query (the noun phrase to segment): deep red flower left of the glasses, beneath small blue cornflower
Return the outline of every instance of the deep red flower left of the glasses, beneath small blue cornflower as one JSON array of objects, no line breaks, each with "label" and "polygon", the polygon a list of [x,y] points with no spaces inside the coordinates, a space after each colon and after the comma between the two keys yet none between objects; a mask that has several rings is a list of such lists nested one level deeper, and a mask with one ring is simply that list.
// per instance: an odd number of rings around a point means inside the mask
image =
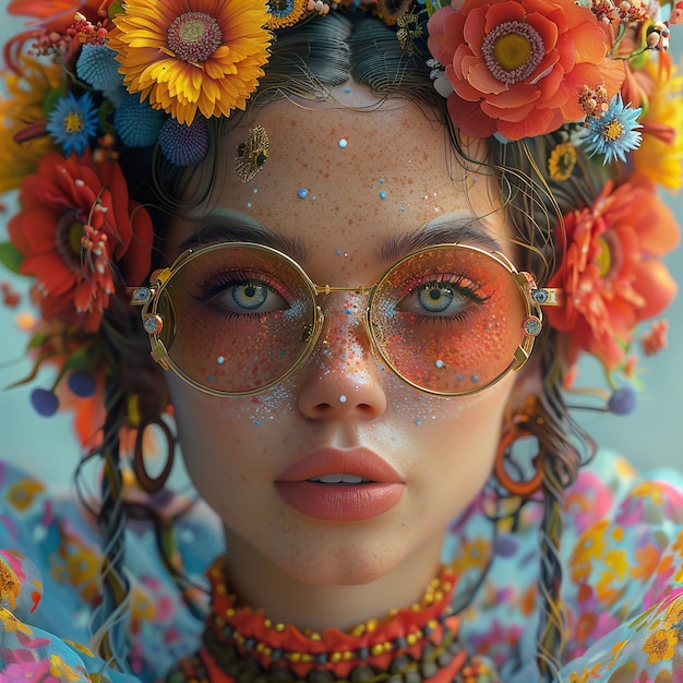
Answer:
[{"label": "deep red flower left of the glasses, beneath small blue cornflower", "polygon": [[24,255],[21,272],[38,279],[43,316],[96,332],[117,286],[149,272],[149,215],[129,201],[119,165],[89,154],[47,154],[20,199],[10,239]]}]

